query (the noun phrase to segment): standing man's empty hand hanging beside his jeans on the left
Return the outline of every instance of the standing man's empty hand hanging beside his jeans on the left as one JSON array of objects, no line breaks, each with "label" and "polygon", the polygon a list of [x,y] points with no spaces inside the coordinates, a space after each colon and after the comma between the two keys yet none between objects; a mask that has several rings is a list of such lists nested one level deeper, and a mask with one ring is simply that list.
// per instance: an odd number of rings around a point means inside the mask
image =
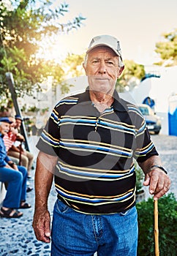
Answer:
[{"label": "standing man's empty hand hanging beside his jeans on the left", "polygon": [[50,243],[50,214],[47,209],[34,211],[33,228],[37,240]]}]

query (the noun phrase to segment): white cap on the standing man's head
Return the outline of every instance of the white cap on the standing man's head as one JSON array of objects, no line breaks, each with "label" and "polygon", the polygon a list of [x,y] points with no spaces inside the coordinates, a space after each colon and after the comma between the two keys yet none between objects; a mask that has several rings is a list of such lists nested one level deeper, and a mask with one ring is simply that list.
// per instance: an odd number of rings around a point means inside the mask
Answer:
[{"label": "white cap on the standing man's head", "polygon": [[119,41],[118,39],[116,39],[116,37],[112,37],[109,35],[101,35],[91,39],[89,48],[86,53],[89,53],[90,50],[102,45],[108,46],[109,48],[111,48],[116,53],[116,55],[121,58],[121,61],[122,61],[121,48],[120,48]]}]

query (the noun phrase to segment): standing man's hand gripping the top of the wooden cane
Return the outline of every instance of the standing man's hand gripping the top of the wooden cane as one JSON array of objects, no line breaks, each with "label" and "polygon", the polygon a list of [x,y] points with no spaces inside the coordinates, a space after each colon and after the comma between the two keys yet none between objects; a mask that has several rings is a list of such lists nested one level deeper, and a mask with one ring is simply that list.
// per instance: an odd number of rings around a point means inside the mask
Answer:
[{"label": "standing man's hand gripping the top of the wooden cane", "polygon": [[149,192],[154,195],[154,200],[165,195],[170,189],[170,178],[158,167],[154,167],[145,176],[144,186],[149,186]]}]

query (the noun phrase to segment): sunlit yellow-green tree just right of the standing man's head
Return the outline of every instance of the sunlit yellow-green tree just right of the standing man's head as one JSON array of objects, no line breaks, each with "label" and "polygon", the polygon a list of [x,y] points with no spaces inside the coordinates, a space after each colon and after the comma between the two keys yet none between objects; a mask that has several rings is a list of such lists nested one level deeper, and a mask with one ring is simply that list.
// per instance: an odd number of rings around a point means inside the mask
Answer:
[{"label": "sunlit yellow-green tree just right of the standing man's head", "polygon": [[125,86],[128,86],[129,90],[132,90],[145,75],[144,66],[135,63],[135,61],[124,60],[124,65],[124,71],[116,83],[116,89],[119,92],[124,91]]}]

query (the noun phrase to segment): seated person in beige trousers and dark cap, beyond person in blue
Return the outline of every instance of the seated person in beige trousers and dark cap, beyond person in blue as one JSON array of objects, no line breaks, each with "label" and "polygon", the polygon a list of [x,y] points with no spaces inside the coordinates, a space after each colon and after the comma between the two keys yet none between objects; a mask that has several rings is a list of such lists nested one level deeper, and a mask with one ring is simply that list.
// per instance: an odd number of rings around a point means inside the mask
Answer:
[{"label": "seated person in beige trousers and dark cap, beyond person in blue", "polygon": [[[23,121],[23,118],[20,116],[15,116],[15,129],[18,130],[17,138],[15,141],[24,141],[23,135],[20,135],[20,126]],[[22,146],[15,146],[15,144],[12,145],[12,147],[7,152],[8,156],[15,157],[18,159],[21,159],[21,165],[26,167],[28,170],[28,177],[30,178],[30,171],[31,167],[33,165],[33,159],[34,156],[29,151],[26,151]]]}]

